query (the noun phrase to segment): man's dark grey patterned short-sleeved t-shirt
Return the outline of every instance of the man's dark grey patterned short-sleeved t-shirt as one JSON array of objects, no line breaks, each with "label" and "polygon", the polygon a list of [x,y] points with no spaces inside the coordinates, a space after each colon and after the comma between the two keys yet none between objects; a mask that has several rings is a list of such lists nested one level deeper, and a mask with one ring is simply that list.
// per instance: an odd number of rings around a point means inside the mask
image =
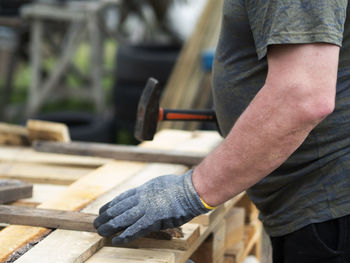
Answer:
[{"label": "man's dark grey patterned short-sleeved t-shirt", "polygon": [[341,46],[335,111],[248,195],[271,236],[350,214],[350,25],[346,0],[224,0],[213,95],[227,135],[264,85],[271,44]]}]

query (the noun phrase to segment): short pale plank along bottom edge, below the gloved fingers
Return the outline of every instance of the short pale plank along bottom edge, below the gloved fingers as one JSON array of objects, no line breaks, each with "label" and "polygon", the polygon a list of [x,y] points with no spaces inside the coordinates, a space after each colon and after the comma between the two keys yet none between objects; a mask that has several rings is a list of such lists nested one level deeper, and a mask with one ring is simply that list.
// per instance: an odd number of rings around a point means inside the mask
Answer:
[{"label": "short pale plank along bottom edge, below the gloved fingers", "polygon": [[103,247],[86,263],[132,263],[132,262],[157,262],[175,263],[175,255],[172,252],[152,251],[146,249],[128,249]]}]

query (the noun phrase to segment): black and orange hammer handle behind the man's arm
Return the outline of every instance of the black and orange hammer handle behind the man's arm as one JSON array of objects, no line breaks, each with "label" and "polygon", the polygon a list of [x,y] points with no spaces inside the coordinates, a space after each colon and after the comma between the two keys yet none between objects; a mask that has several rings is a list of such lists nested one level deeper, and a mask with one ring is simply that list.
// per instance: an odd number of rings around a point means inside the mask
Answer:
[{"label": "black and orange hammer handle behind the man's arm", "polygon": [[216,122],[214,110],[172,110],[159,108],[158,121],[210,121]]}]

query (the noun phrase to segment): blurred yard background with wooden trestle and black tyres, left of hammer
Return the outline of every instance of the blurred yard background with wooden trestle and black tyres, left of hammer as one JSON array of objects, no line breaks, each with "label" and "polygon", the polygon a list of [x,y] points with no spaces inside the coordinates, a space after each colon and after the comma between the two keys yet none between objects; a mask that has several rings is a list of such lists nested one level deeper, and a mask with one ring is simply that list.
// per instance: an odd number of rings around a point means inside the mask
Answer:
[{"label": "blurred yard background with wooden trestle and black tyres, left of hammer", "polygon": [[1,0],[0,121],[135,144],[148,77],[168,81],[207,0]]}]

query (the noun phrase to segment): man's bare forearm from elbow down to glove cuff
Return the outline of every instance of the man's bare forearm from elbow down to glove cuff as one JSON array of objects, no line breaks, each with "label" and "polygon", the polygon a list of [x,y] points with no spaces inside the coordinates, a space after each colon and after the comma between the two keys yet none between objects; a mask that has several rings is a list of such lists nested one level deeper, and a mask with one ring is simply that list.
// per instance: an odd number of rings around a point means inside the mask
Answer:
[{"label": "man's bare forearm from elbow down to glove cuff", "polygon": [[268,89],[261,90],[223,143],[195,168],[194,186],[208,204],[221,204],[271,173],[321,120],[303,120],[301,111],[285,108]]}]

